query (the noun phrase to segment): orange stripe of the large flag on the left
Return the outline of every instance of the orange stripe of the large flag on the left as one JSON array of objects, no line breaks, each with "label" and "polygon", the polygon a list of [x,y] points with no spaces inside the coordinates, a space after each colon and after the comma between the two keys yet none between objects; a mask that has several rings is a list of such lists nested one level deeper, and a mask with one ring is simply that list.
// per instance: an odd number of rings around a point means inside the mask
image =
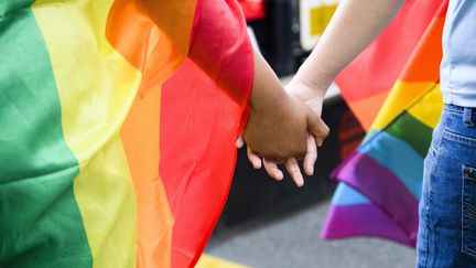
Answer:
[{"label": "orange stripe of the large flag on the left", "polygon": [[107,36],[142,72],[121,129],[138,202],[138,267],[170,267],[173,216],[159,174],[162,84],[186,57],[196,1],[117,1]]}]

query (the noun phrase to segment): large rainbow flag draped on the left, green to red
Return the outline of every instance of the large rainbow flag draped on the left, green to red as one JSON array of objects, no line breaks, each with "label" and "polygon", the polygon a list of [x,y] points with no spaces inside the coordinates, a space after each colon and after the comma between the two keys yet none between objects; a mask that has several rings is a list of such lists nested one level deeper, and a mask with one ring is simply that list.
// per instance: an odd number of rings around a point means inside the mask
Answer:
[{"label": "large rainbow flag draped on the left, green to red", "polygon": [[235,1],[1,1],[0,267],[192,267],[252,69]]}]

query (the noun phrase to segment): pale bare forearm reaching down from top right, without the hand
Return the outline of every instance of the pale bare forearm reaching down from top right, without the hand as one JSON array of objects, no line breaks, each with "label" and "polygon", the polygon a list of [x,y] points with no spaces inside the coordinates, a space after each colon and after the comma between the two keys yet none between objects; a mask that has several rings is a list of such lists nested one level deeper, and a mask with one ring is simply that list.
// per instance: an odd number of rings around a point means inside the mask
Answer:
[{"label": "pale bare forearm reaching down from top right, without the hand", "polygon": [[294,79],[324,95],[335,76],[385,29],[403,1],[342,1]]}]

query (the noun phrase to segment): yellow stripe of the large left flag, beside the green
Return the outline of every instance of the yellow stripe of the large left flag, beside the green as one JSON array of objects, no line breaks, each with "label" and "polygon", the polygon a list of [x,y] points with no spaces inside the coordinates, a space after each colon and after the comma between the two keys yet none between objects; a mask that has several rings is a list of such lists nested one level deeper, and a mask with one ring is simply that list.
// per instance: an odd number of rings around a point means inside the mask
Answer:
[{"label": "yellow stripe of the large left flag, beside the green", "polygon": [[94,267],[136,267],[137,204],[119,130],[141,74],[106,40],[112,0],[36,1]]}]

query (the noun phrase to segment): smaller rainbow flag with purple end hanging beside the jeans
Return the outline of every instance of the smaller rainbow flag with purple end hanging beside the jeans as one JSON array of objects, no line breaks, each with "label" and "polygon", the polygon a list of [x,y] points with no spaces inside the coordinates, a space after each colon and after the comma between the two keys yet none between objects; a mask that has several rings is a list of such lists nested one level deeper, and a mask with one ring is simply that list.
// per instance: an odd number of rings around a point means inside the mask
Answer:
[{"label": "smaller rainbow flag with purple end hanging beside the jeans", "polygon": [[344,98],[369,131],[333,174],[340,183],[324,238],[378,236],[415,245],[423,159],[443,108],[439,83],[446,9],[447,0],[407,1],[338,77]]}]

